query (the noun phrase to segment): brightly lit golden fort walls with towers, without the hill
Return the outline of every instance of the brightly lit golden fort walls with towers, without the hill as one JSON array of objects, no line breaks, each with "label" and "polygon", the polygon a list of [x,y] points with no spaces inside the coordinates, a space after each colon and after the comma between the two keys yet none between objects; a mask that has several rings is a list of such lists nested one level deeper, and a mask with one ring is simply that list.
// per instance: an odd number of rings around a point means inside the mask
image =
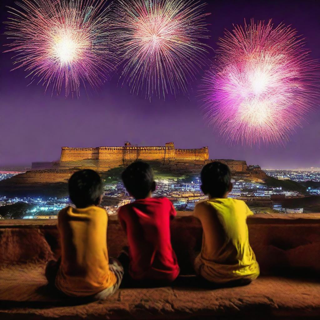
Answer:
[{"label": "brightly lit golden fort walls with towers, without the hill", "polygon": [[125,142],[123,147],[69,148],[62,147],[60,166],[73,163],[128,164],[135,160],[159,161],[164,164],[172,162],[204,163],[209,159],[208,147],[199,149],[176,149],[173,142],[158,147],[137,147]]}]

